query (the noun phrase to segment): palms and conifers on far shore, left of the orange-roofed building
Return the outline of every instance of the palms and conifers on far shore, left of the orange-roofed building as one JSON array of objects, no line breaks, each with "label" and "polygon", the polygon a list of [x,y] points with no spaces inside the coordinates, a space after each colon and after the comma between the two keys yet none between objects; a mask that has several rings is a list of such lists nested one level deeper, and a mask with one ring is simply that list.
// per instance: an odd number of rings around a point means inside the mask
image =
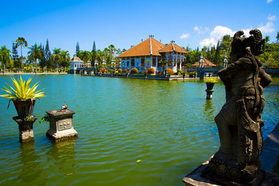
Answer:
[{"label": "palms and conifers on far shore, left of the orange-roofed building", "polygon": [[[29,51],[27,56],[22,55],[22,49],[27,47]],[[17,49],[20,48],[20,55],[17,52]],[[106,67],[112,65],[119,66],[119,59],[116,56],[125,52],[126,49],[116,49],[114,45],[110,45],[105,48],[103,51],[98,49],[96,50],[95,41],[93,42],[93,48],[91,52],[86,50],[80,50],[79,42],[77,42],[76,53],[86,65],[87,62],[91,61],[91,66],[93,67],[103,67],[103,61],[106,61]],[[6,72],[7,69],[13,69],[14,72],[20,71],[38,71],[40,70],[46,72],[65,72],[70,70],[70,54],[68,50],[62,50],[61,48],[55,48],[50,50],[49,41],[47,39],[45,46],[40,44],[31,45],[28,47],[27,40],[25,38],[19,37],[15,42],[13,42],[12,52],[6,46],[1,46],[0,49],[0,62],[1,70]],[[98,61],[98,65],[95,65],[95,61]]]}]

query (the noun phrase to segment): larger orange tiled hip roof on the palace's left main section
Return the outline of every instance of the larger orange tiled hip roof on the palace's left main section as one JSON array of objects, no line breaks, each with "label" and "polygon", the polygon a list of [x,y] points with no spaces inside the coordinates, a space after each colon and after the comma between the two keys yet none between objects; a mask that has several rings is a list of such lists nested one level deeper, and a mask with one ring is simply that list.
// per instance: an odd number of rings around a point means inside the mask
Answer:
[{"label": "larger orange tiled hip roof on the palace's left main section", "polygon": [[[151,47],[150,47],[151,45]],[[154,38],[148,38],[147,40],[144,40],[139,45],[136,45],[135,47],[128,49],[123,54],[117,56],[119,58],[122,57],[130,57],[130,56],[161,56],[161,54],[158,52],[159,49],[162,49],[165,47],[165,45],[161,42],[158,42],[158,40]]]}]

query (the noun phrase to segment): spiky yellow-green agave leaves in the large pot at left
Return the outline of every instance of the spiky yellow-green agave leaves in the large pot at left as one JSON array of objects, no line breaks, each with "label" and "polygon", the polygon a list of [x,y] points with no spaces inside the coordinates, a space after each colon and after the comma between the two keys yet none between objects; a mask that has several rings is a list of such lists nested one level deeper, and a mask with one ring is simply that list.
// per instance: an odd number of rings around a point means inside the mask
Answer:
[{"label": "spiky yellow-green agave leaves in the large pot at left", "polygon": [[3,86],[3,88],[5,89],[1,90],[5,91],[8,94],[0,95],[1,97],[8,98],[10,100],[33,100],[46,96],[43,92],[41,92],[43,91],[43,89],[41,89],[40,91],[36,91],[38,82],[30,88],[32,78],[29,78],[27,81],[23,81],[21,76],[20,79],[17,79],[18,81],[15,78],[11,79],[13,80],[14,88],[9,84],[7,85],[10,87],[11,90]]}]

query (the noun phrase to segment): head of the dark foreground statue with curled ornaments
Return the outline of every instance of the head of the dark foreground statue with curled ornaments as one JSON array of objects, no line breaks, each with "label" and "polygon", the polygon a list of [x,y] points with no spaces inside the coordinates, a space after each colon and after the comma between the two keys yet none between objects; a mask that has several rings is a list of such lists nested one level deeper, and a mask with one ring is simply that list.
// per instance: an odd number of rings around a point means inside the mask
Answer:
[{"label": "head of the dark foreground statue with curled ornaments", "polygon": [[234,34],[231,52],[232,63],[247,54],[247,52],[250,52],[255,56],[262,54],[262,45],[264,44],[264,40],[262,39],[261,31],[253,29],[249,33],[252,35],[249,38],[243,36],[243,31],[237,31]]}]

